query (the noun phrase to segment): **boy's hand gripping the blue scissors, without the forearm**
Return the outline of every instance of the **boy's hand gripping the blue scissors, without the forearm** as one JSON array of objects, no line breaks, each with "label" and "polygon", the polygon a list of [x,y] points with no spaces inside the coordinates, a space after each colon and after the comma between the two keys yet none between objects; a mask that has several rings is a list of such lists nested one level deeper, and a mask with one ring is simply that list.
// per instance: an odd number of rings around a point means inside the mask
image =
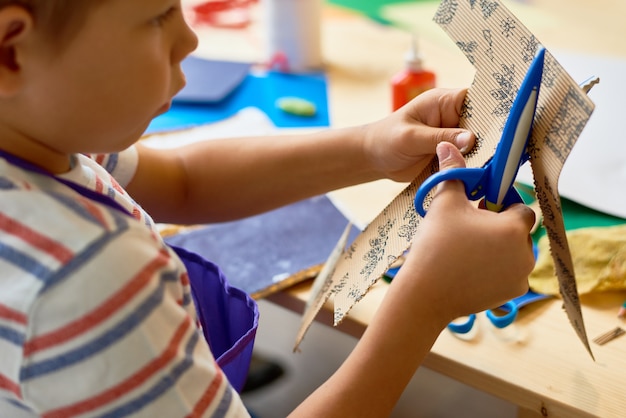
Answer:
[{"label": "boy's hand gripping the blue scissors, without the forearm", "polygon": [[[441,170],[465,166],[451,144],[439,144],[437,155]],[[465,196],[462,182],[441,183],[405,262],[418,271],[419,265],[429,266],[427,274],[414,275],[420,293],[427,293],[420,300],[432,301],[450,321],[526,292],[535,263],[534,220],[523,204],[500,213],[479,209]]]}]

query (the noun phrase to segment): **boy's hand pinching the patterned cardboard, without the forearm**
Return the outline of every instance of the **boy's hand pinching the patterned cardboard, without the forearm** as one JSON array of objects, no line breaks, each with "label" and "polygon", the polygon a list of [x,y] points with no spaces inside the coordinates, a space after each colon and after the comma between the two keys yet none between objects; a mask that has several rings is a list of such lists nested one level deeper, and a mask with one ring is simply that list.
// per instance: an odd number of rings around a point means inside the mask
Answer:
[{"label": "boy's hand pinching the patterned cardboard, without the forearm", "polygon": [[374,167],[392,180],[412,181],[440,142],[450,142],[463,153],[471,150],[474,135],[457,127],[466,92],[428,90],[385,119],[367,125],[365,149]]}]

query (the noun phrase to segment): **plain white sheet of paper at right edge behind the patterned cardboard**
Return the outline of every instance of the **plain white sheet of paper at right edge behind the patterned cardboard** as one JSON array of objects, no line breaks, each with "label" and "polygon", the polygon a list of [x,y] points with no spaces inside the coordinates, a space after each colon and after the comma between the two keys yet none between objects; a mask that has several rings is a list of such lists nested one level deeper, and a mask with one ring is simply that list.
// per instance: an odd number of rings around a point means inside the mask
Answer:
[{"label": "plain white sheet of paper at right edge behind the patterned cardboard", "polygon": [[[600,83],[589,92],[596,108],[563,166],[559,194],[589,208],[626,218],[626,59],[552,51],[576,80]],[[530,164],[517,179],[532,185]]]}]

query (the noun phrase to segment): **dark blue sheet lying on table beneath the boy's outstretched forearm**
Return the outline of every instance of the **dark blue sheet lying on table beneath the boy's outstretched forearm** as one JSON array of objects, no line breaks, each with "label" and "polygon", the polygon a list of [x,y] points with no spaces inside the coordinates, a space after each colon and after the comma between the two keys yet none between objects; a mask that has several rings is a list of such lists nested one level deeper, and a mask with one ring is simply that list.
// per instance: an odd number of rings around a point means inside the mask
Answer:
[{"label": "dark blue sheet lying on table beneath the boy's outstretched forearm", "polygon": [[[165,240],[216,263],[232,286],[255,294],[325,262],[347,223],[330,199],[320,195]],[[358,233],[352,227],[349,242]]]}]

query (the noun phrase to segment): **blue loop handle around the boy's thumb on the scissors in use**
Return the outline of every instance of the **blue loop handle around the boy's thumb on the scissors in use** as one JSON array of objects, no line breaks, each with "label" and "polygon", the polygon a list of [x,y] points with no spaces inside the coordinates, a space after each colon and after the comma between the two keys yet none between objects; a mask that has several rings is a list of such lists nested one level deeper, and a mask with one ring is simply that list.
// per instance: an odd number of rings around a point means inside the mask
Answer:
[{"label": "blue loop handle around the boy's thumb on the scissors in use", "polygon": [[470,200],[478,200],[485,195],[484,187],[481,181],[485,177],[487,170],[485,168],[452,168],[450,170],[439,171],[428,177],[417,189],[415,193],[415,210],[424,217],[426,210],[424,209],[424,201],[428,193],[439,183],[446,180],[460,180],[465,185],[465,195]]}]

